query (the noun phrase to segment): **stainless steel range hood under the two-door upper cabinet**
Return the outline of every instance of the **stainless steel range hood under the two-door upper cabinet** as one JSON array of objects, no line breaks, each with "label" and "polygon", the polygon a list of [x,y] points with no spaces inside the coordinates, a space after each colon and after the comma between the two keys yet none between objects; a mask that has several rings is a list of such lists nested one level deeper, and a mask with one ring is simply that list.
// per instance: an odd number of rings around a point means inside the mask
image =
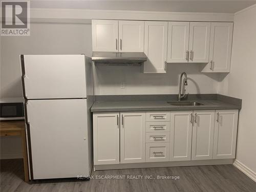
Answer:
[{"label": "stainless steel range hood under the two-door upper cabinet", "polygon": [[102,65],[141,65],[147,60],[143,52],[93,52],[92,60]]}]

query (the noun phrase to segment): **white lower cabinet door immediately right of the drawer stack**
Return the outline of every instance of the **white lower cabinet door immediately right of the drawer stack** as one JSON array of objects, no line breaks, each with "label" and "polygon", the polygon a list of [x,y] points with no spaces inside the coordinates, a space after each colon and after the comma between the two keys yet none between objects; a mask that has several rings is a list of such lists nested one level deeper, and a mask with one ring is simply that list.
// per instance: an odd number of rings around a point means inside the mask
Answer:
[{"label": "white lower cabinet door immediately right of the drawer stack", "polygon": [[170,112],[170,161],[191,159],[193,111]]}]

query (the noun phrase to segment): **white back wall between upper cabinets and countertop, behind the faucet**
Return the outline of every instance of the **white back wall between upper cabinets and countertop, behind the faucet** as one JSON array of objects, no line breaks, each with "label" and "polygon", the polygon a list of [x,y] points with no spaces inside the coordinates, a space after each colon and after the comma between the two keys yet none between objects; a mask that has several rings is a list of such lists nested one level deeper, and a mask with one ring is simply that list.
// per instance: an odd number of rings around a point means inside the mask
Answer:
[{"label": "white back wall between upper cabinets and countertop, behind the faucet", "polygon": [[169,63],[166,74],[143,74],[140,67],[135,66],[96,65],[95,95],[178,94],[183,71],[188,77],[187,93],[217,93],[218,74],[203,74],[199,71],[200,65]]}]

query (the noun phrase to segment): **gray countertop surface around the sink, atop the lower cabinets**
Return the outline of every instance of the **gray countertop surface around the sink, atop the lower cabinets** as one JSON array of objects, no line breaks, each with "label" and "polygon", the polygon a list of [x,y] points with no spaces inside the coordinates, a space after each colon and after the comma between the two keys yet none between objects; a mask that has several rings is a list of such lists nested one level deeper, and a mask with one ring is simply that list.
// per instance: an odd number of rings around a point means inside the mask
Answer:
[{"label": "gray countertop surface around the sink, atop the lower cabinets", "polygon": [[241,105],[217,99],[194,99],[203,105],[174,106],[167,102],[177,100],[139,100],[139,101],[95,101],[91,112],[124,112],[124,111],[182,111],[182,110],[228,110],[241,109]]}]

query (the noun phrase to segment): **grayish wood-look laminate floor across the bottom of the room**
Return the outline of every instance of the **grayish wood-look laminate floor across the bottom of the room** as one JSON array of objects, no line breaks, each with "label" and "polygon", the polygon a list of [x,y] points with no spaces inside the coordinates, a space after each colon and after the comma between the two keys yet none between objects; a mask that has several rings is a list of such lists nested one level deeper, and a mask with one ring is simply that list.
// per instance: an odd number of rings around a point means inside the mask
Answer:
[{"label": "grayish wood-look laminate floor across the bottom of the room", "polygon": [[[22,159],[1,160],[1,191],[256,191],[256,183],[233,165],[136,168],[93,172],[88,180],[25,183]],[[98,178],[96,178],[96,176]],[[123,176],[125,179],[99,177]],[[130,179],[127,179],[130,176]],[[136,179],[135,177],[143,178]],[[148,176],[150,178],[145,178]],[[179,176],[179,179],[157,179]],[[155,178],[155,179],[154,179]]]}]

